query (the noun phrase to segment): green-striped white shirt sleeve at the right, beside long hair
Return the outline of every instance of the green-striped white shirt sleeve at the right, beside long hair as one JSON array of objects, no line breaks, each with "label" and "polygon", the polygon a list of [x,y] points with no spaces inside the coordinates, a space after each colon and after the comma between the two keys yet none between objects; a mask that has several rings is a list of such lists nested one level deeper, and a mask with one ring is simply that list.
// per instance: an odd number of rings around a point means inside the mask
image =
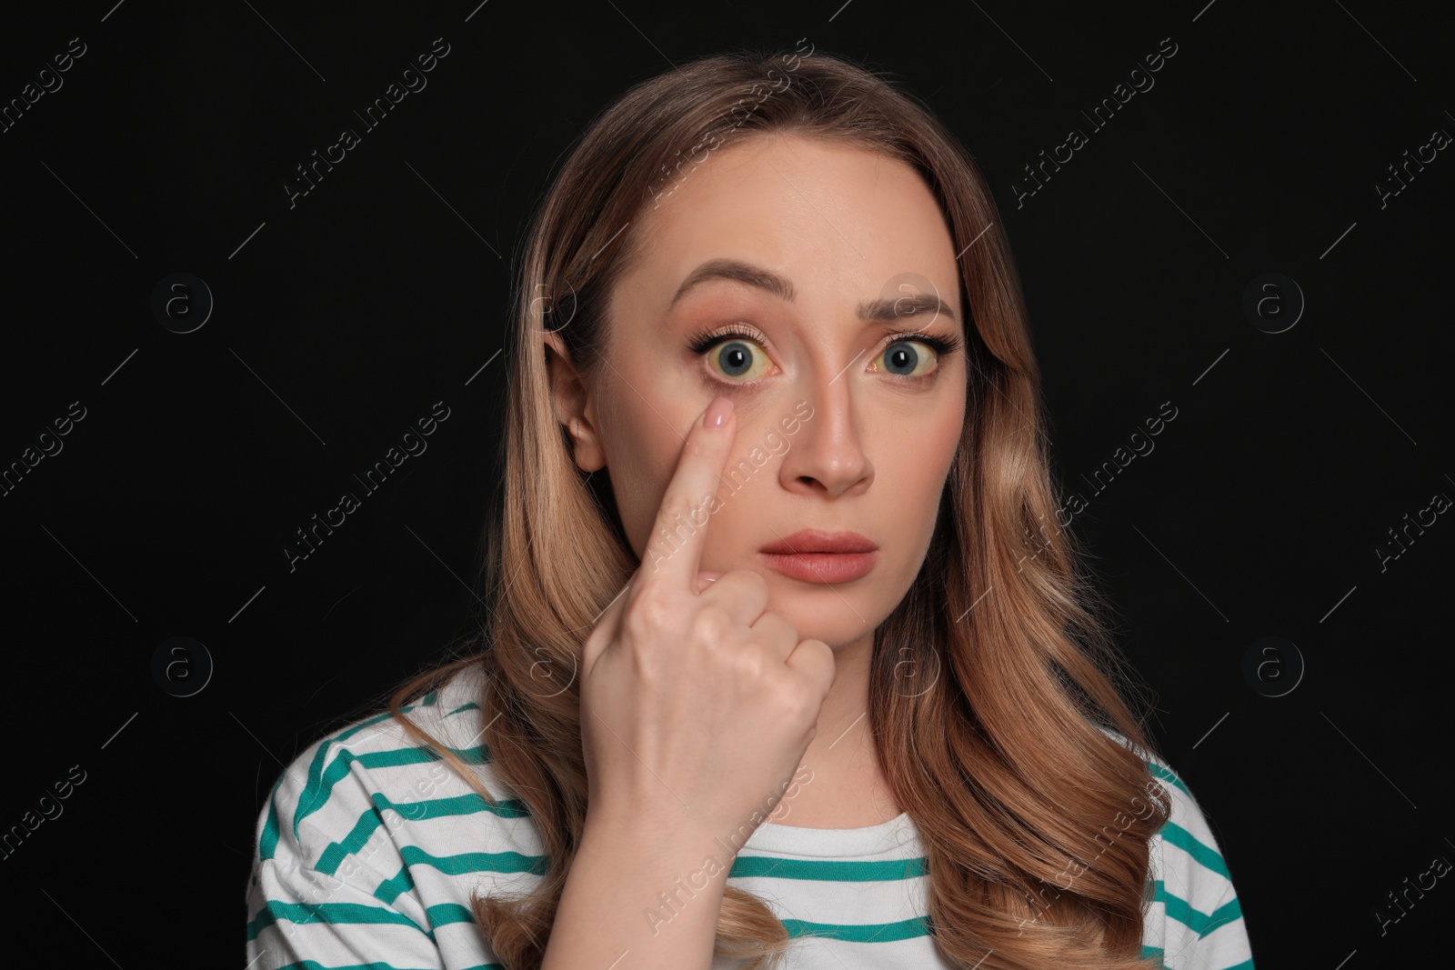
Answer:
[{"label": "green-striped white shirt sleeve at the right, beside long hair", "polygon": [[1202,809],[1167,765],[1148,765],[1171,814],[1149,843],[1142,955],[1161,958],[1167,970],[1253,970],[1232,874]]}]

